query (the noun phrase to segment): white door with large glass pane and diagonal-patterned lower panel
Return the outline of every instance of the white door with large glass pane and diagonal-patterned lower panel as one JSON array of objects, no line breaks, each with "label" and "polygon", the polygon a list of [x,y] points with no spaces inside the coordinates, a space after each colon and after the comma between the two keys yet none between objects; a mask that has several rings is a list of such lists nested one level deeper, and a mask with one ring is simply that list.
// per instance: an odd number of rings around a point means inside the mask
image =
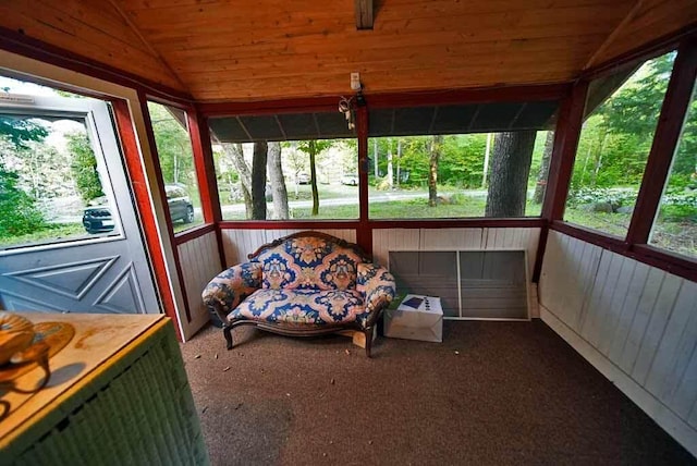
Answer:
[{"label": "white door with large glass pane and diagonal-patterned lower panel", "polygon": [[[39,122],[50,131],[40,150],[33,142],[12,152],[7,138],[2,146],[5,172],[22,174],[15,179],[30,192],[42,226],[0,244],[0,308],[160,312],[108,103],[63,97],[8,100],[0,99],[5,122]],[[103,195],[87,203],[74,176],[81,177],[77,160],[89,149]]]}]

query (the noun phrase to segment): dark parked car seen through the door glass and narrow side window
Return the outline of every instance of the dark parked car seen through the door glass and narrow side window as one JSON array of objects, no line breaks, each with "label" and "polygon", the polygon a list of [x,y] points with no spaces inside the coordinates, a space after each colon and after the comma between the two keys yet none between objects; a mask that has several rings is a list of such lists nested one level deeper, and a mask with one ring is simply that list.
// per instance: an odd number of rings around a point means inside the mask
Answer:
[{"label": "dark parked car seen through the door glass and narrow side window", "polygon": [[[184,223],[194,221],[194,205],[188,198],[184,187],[168,184],[164,185],[167,194],[167,205],[170,208],[170,217],[172,222],[181,220]],[[113,230],[114,221],[111,217],[109,206],[105,206],[106,198],[100,198],[99,204],[95,207],[87,207],[83,211],[83,225],[89,234],[108,233]]]}]

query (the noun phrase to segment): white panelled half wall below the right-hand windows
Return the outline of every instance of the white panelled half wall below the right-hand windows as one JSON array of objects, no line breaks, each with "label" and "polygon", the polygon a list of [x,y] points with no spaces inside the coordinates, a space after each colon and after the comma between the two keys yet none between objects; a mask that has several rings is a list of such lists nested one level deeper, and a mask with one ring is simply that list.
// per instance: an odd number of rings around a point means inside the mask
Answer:
[{"label": "white panelled half wall below the right-hand windows", "polygon": [[540,315],[697,455],[697,283],[551,231]]}]

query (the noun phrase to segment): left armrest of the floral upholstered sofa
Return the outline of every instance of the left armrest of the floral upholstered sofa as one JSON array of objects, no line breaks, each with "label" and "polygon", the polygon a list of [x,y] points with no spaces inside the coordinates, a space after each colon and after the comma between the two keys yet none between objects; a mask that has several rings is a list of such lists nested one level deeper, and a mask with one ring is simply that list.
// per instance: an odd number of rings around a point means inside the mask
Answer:
[{"label": "left armrest of the floral upholstered sofa", "polygon": [[261,287],[261,263],[243,262],[220,272],[213,278],[201,297],[208,308],[228,322],[228,314],[247,296]]}]

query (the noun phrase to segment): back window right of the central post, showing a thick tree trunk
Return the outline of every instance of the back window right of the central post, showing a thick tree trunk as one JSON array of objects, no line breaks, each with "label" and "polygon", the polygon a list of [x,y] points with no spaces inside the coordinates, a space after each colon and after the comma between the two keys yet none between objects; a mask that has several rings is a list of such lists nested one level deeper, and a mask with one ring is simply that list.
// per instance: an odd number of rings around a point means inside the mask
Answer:
[{"label": "back window right of the central post, showing a thick tree trunk", "polygon": [[370,112],[371,219],[539,216],[557,101]]}]

